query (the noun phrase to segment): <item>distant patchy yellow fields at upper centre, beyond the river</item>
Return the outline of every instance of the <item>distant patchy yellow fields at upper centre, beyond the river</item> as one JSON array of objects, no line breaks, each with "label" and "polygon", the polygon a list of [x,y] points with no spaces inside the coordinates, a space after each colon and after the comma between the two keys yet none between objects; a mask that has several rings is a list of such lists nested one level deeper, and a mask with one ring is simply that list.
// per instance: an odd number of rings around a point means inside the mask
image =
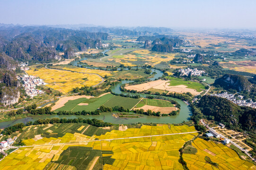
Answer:
[{"label": "distant patchy yellow fields at upper centre, beyond the river", "polygon": [[150,50],[136,50],[129,54],[112,56],[113,58],[108,60],[124,64],[124,66],[136,66],[133,62],[140,60],[146,62],[145,64],[155,66],[161,62],[168,62],[171,59],[174,59],[176,55],[177,53],[159,53]]}]

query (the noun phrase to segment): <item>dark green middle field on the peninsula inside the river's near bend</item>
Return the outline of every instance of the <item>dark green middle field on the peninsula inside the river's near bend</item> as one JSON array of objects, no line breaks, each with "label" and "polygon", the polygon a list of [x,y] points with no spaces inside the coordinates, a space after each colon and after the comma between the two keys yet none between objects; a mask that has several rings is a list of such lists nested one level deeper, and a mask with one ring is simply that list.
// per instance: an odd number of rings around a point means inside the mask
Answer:
[{"label": "dark green middle field on the peninsula inside the river's near bend", "polygon": [[140,99],[115,96],[111,98],[109,101],[107,101],[106,103],[104,103],[104,106],[106,107],[123,106],[125,109],[132,109],[133,106],[135,106],[139,101]]}]

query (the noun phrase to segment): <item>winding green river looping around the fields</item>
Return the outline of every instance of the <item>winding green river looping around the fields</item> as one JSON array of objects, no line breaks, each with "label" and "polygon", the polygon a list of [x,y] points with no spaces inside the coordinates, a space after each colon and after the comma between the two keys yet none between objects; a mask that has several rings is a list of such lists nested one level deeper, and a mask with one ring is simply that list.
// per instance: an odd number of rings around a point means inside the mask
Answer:
[{"label": "winding green river looping around the fields", "polygon": [[[77,62],[78,63],[78,62]],[[152,72],[156,72],[156,74],[150,78],[150,80],[155,80],[163,75],[163,72],[151,68]],[[141,97],[146,97],[146,96],[154,96],[151,94],[141,94],[141,93],[126,93],[121,91],[121,85],[126,84],[126,83],[131,83],[132,80],[123,80],[122,82],[118,83],[114,87],[112,87],[112,91],[114,93],[120,94],[131,94],[131,95],[140,95]],[[35,121],[37,119],[51,119],[51,118],[67,118],[67,119],[75,119],[75,118],[83,118],[83,119],[100,119],[104,120],[105,122],[109,123],[114,123],[114,124],[132,124],[132,123],[182,123],[183,121],[187,121],[190,119],[190,116],[192,114],[191,108],[185,104],[180,99],[172,98],[172,97],[167,97],[169,99],[177,101],[180,106],[180,112],[175,115],[175,116],[166,116],[166,117],[157,117],[157,116],[147,116],[147,115],[140,115],[139,118],[115,118],[112,116],[112,113],[101,113],[100,115],[37,115],[37,116],[32,116],[32,117],[27,117],[23,119],[16,119],[16,120],[11,120],[11,121],[6,121],[6,122],[0,122],[0,128],[2,127],[9,127],[12,126],[16,123],[25,123],[28,121]]]}]

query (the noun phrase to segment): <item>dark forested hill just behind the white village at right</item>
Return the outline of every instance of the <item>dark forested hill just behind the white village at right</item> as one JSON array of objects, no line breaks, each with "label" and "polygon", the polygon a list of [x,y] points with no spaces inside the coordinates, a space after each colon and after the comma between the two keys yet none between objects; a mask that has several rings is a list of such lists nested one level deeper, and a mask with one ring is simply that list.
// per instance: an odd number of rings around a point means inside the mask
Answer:
[{"label": "dark forested hill just behind the white village at right", "polygon": [[217,78],[214,85],[220,85],[226,90],[234,89],[240,91],[250,91],[252,84],[246,77],[240,75],[225,74],[221,78]]}]

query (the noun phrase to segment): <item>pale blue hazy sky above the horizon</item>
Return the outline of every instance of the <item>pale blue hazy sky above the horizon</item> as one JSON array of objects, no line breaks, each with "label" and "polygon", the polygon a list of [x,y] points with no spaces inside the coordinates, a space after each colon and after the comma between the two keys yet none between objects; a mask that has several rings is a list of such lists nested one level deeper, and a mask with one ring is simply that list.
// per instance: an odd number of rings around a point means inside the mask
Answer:
[{"label": "pale blue hazy sky above the horizon", "polygon": [[256,28],[256,0],[0,0],[0,23]]}]

